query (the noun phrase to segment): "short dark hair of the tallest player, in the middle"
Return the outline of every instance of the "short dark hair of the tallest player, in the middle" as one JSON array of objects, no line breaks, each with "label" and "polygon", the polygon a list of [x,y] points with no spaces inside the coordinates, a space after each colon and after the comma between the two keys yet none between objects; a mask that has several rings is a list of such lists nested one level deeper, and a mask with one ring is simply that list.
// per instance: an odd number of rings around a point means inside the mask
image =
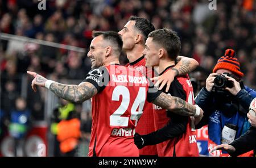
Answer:
[{"label": "short dark hair of the tallest player, in the middle", "polygon": [[145,18],[131,16],[129,20],[135,21],[134,27],[142,33],[144,42],[146,42],[148,34],[155,30],[153,24]]}]

